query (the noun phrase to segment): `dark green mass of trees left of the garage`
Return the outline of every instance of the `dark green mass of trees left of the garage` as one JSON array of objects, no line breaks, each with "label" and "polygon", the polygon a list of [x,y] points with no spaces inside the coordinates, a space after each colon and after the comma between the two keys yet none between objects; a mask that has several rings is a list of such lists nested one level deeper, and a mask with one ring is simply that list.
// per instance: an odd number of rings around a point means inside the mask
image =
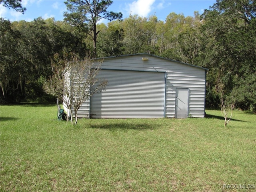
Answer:
[{"label": "dark green mass of trees left of the garage", "polygon": [[48,99],[38,81],[51,75],[53,54],[63,49],[86,54],[84,42],[64,22],[37,18],[11,23],[1,18],[0,30],[1,102]]}]

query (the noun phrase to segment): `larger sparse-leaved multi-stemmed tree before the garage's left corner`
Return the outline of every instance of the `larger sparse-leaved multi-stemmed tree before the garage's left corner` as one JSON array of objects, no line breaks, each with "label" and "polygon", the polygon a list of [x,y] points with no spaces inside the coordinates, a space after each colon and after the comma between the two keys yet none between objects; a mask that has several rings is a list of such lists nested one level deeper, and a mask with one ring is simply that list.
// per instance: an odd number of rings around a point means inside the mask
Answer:
[{"label": "larger sparse-leaved multi-stemmed tree before the garage's left corner", "polygon": [[[72,56],[71,60],[63,60],[58,54],[54,58],[52,60],[53,75],[44,87],[48,94],[63,100],[63,104],[70,112],[68,116],[72,125],[76,125],[78,109],[94,93],[101,92],[108,84],[106,80],[96,78],[102,61],[96,64],[94,59],[86,57],[80,60],[77,56]],[[72,110],[75,122],[73,122]]]}]

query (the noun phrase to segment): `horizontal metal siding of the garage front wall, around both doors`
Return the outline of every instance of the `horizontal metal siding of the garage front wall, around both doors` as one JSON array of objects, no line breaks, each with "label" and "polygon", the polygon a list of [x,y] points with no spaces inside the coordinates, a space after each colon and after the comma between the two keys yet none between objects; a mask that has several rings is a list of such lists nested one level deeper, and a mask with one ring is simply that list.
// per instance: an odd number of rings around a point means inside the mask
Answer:
[{"label": "horizontal metal siding of the garage front wall, around both doors", "polygon": [[[148,61],[142,61],[142,57],[148,58]],[[191,117],[204,117],[206,83],[206,69],[204,68],[148,54],[104,58],[101,68],[103,70],[129,70],[134,72],[166,72],[164,116],[175,117],[176,88],[188,88],[188,115]],[[93,109],[91,108],[91,110]],[[89,100],[78,110],[78,114],[79,117],[90,117]]]}]

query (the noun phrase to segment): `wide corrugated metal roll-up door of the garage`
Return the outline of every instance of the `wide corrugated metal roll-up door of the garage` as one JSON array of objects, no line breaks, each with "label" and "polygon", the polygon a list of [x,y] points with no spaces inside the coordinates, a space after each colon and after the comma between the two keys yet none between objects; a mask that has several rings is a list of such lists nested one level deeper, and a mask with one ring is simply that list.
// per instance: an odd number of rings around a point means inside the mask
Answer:
[{"label": "wide corrugated metal roll-up door of the garage", "polygon": [[101,70],[106,91],[90,99],[91,118],[164,117],[165,73]]}]

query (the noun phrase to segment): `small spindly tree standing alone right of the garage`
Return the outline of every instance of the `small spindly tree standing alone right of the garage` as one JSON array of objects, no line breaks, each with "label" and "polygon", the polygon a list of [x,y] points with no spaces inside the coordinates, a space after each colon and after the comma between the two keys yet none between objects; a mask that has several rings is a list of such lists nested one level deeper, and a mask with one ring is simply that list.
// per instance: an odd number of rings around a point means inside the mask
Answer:
[{"label": "small spindly tree standing alone right of the garage", "polygon": [[230,122],[233,110],[235,108],[235,99],[233,98],[233,95],[231,95],[231,99],[228,99],[226,97],[224,99],[223,94],[220,96],[220,109],[221,109],[221,114],[224,117],[224,126],[226,127],[228,122]]}]

